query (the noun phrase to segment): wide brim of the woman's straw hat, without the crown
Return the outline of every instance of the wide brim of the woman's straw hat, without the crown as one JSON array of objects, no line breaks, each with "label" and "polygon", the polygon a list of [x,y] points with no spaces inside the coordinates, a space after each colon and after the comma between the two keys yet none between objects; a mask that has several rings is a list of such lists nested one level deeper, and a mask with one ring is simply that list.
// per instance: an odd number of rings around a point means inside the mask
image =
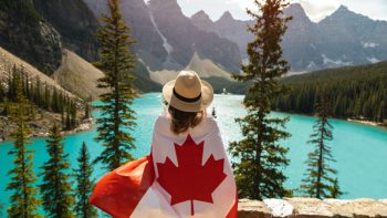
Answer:
[{"label": "wide brim of the woman's straw hat, without the crown", "polygon": [[213,100],[213,89],[212,86],[203,81],[201,82],[201,97],[197,102],[184,102],[174,95],[176,80],[169,81],[163,87],[163,97],[168,104],[182,112],[199,112],[207,108]]}]

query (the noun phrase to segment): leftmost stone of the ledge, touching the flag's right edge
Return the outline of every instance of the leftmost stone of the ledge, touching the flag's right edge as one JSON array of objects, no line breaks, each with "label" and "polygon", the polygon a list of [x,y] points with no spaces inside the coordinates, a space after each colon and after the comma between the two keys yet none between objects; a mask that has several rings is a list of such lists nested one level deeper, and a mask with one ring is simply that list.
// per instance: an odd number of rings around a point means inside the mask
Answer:
[{"label": "leftmost stone of the ledge, touching the flag's right edge", "polygon": [[239,218],[269,218],[271,211],[266,205],[259,200],[241,199],[238,204]]}]

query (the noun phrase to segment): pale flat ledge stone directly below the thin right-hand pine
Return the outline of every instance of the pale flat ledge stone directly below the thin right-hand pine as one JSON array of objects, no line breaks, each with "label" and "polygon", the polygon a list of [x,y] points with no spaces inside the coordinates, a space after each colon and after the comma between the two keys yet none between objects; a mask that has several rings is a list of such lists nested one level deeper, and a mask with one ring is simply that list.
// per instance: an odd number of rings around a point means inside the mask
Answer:
[{"label": "pale flat ledge stone directly below the thin right-hand pine", "polygon": [[317,198],[286,198],[293,207],[293,215],[300,218],[333,217],[330,205]]}]

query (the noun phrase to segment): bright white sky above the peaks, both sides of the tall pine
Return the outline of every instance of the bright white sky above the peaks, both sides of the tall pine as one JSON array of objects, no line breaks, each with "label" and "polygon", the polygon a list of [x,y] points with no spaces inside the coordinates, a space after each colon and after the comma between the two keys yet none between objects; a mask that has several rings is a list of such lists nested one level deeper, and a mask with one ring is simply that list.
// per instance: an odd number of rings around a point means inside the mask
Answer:
[{"label": "bright white sky above the peaks, both sides of the tall pine", "polygon": [[[206,11],[212,20],[218,20],[224,11],[239,20],[248,20],[245,8],[254,9],[253,0],[177,0],[182,12],[190,17],[199,10]],[[303,6],[306,14],[318,22],[333,13],[341,4],[349,10],[375,20],[387,20],[387,0],[291,0]]]}]

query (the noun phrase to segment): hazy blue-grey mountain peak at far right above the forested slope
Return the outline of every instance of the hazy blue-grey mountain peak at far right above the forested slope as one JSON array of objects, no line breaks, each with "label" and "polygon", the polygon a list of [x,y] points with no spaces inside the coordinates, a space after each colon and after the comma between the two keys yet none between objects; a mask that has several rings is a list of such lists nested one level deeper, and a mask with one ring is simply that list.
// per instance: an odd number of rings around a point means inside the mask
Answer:
[{"label": "hazy blue-grey mountain peak at far right above the forested slope", "polygon": [[387,59],[385,21],[374,21],[342,6],[317,25],[317,46],[324,62],[353,65]]}]

